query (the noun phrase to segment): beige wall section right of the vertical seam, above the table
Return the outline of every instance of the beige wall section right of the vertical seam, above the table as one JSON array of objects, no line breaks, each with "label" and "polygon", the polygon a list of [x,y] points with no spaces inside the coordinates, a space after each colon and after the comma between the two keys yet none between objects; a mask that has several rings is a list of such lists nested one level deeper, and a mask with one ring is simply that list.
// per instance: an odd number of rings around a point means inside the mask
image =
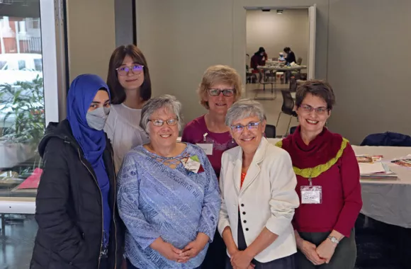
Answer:
[{"label": "beige wall section right of the vertical seam, above the table", "polygon": [[411,1],[330,0],[330,129],[360,144],[375,132],[411,135]]}]

